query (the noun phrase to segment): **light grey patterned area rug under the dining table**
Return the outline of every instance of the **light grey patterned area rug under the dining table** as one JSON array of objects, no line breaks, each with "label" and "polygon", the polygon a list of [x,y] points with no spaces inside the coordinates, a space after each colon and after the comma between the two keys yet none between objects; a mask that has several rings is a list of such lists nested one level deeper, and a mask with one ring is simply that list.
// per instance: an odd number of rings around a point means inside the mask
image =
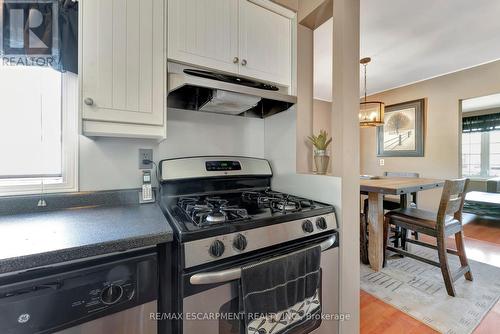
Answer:
[{"label": "light grey patterned area rug under the dining table", "polygon": [[[436,252],[410,247],[411,252],[437,261]],[[459,268],[458,257],[448,258],[452,270]],[[361,289],[440,333],[469,334],[500,297],[500,268],[469,262],[474,281],[459,278],[456,297],[446,293],[441,269],[408,257],[390,257],[379,272],[361,265]]]}]

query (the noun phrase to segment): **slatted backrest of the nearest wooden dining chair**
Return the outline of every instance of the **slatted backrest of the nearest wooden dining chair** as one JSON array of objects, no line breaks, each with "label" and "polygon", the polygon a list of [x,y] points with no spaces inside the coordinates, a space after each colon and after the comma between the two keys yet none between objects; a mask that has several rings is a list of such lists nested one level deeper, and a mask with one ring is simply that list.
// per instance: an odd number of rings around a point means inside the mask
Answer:
[{"label": "slatted backrest of the nearest wooden dining chair", "polygon": [[462,221],[462,209],[468,186],[469,179],[445,181],[437,214],[438,227],[444,226],[447,219],[446,216],[453,216],[453,218],[460,222]]}]

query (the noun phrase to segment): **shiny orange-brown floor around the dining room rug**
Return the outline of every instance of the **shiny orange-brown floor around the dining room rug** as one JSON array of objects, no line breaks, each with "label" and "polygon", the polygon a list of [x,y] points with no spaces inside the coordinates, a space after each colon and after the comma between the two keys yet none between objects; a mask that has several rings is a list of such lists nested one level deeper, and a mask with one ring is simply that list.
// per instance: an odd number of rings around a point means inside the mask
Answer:
[{"label": "shiny orange-brown floor around the dining room rug", "polygon": [[[471,260],[500,267],[500,223],[477,222],[464,227],[467,256]],[[449,240],[450,248],[454,240]],[[432,328],[413,319],[383,301],[360,292],[361,297],[361,333],[437,333]],[[474,334],[500,333],[500,302],[486,315]]]}]

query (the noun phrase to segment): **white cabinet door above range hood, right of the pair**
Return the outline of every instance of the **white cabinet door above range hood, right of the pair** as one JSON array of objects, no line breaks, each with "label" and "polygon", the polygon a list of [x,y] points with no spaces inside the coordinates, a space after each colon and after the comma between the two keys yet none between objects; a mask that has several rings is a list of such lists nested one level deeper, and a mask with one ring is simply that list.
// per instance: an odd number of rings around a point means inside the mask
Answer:
[{"label": "white cabinet door above range hood, right of the pair", "polygon": [[240,74],[290,86],[291,20],[247,0],[239,18]]}]

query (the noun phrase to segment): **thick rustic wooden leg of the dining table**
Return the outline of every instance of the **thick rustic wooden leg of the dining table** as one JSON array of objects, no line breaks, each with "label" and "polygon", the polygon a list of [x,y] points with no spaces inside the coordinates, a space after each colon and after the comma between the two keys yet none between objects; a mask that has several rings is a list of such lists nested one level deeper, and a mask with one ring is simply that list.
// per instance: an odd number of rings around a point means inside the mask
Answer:
[{"label": "thick rustic wooden leg of the dining table", "polygon": [[382,269],[384,262],[384,197],[368,193],[368,259],[373,270]]}]

